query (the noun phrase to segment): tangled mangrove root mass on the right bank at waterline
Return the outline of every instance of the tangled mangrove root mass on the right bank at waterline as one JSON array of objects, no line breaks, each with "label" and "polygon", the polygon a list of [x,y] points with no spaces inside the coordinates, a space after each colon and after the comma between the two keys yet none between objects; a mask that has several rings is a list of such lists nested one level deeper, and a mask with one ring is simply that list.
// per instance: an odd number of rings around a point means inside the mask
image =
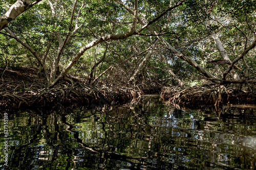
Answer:
[{"label": "tangled mangrove root mass on the right bank at waterline", "polygon": [[223,104],[255,104],[255,85],[240,85],[237,88],[218,86],[193,86],[188,88],[164,87],[161,98],[173,104],[200,108],[210,106],[220,108]]}]

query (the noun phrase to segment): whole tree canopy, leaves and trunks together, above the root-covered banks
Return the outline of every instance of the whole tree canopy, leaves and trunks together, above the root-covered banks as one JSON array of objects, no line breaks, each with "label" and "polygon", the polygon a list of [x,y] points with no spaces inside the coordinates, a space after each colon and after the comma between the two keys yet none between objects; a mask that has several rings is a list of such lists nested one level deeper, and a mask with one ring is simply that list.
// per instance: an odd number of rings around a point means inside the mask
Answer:
[{"label": "whole tree canopy, leaves and trunks together, above the root-covered banks", "polygon": [[[255,77],[256,1],[1,1],[0,66],[89,83],[191,85]],[[207,78],[209,80],[202,80]]]}]

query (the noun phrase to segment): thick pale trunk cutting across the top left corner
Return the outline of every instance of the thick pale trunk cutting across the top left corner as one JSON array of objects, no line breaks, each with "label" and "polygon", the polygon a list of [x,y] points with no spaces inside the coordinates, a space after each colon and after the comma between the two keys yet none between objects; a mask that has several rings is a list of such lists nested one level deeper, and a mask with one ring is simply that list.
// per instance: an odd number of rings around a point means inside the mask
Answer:
[{"label": "thick pale trunk cutting across the top left corner", "polygon": [[31,4],[29,4],[30,0],[16,1],[4,15],[0,16],[0,31],[8,27],[10,21],[40,1],[41,0],[37,0]]}]

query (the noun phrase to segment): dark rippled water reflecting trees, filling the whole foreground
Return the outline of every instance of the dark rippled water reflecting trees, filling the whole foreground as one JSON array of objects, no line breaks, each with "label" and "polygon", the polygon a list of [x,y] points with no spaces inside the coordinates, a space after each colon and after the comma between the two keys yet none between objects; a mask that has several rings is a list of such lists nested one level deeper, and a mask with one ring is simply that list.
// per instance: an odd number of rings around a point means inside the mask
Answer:
[{"label": "dark rippled water reflecting trees, filling the whole foreground", "polygon": [[256,168],[255,108],[217,114],[146,96],[101,111],[9,113],[7,136],[1,116],[2,169]]}]

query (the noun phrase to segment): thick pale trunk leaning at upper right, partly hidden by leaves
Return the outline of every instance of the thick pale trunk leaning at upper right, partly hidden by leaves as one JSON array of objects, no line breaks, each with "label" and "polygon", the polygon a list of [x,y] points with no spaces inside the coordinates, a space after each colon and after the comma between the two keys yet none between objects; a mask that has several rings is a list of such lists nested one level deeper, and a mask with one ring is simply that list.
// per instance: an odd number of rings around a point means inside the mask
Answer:
[{"label": "thick pale trunk leaning at upper right, partly hidden by leaves", "polygon": [[[210,27],[210,20],[207,19],[206,21],[206,29],[210,30],[209,27]],[[220,52],[222,58],[224,60],[228,60],[230,63],[231,63],[231,60],[229,59],[227,53],[226,53],[226,50],[219,38],[219,36],[214,32],[214,31],[210,31],[211,32],[211,38],[214,40],[215,44],[216,44],[216,47],[218,48],[218,51]],[[239,78],[239,75],[237,74],[236,71],[234,70],[230,70],[230,73],[232,74],[232,78],[233,80],[240,80]]]}]

